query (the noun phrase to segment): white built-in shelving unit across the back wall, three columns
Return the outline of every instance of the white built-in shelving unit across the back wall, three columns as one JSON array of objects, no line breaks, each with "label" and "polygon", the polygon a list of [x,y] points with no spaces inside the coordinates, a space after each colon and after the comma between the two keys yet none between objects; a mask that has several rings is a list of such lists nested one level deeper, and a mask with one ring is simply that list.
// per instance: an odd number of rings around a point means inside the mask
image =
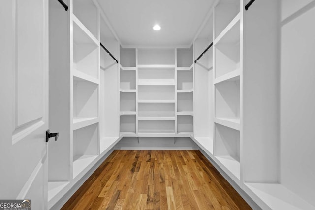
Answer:
[{"label": "white built-in shelving unit across the back wall, three columns", "polygon": [[192,48],[120,48],[120,134],[193,134]]}]

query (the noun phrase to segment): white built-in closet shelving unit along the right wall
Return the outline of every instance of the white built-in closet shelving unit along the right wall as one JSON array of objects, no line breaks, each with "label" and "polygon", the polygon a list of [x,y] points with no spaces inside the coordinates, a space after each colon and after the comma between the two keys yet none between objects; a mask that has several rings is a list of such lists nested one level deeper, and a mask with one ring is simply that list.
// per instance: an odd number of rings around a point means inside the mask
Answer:
[{"label": "white built-in closet shelving unit along the right wall", "polygon": [[192,139],[262,209],[315,209],[292,187],[305,181],[280,173],[288,168],[279,156],[279,5],[257,0],[245,11],[248,2],[218,1],[194,41],[195,59],[213,47],[195,63]]}]

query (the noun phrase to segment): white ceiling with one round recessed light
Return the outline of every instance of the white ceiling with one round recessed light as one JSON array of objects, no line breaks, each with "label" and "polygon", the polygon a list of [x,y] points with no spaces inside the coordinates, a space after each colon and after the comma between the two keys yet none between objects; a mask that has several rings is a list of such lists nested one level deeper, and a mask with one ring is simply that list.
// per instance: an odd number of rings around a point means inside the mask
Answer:
[{"label": "white ceiling with one round recessed light", "polygon": [[[123,46],[188,46],[214,0],[98,2]],[[155,24],[161,30],[153,30]]]}]

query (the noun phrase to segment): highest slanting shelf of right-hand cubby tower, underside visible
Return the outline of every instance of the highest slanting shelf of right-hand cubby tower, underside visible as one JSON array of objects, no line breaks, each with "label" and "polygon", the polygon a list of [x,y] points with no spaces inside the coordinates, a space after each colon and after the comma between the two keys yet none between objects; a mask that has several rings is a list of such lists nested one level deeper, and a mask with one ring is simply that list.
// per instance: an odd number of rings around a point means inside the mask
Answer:
[{"label": "highest slanting shelf of right-hand cubby tower, underside visible", "polygon": [[[240,27],[237,26],[241,19],[241,13],[238,13],[235,18],[227,25],[227,27],[214,40],[213,44],[216,46],[220,43],[234,43],[239,41]],[[238,38],[238,39],[237,39]]]}]

